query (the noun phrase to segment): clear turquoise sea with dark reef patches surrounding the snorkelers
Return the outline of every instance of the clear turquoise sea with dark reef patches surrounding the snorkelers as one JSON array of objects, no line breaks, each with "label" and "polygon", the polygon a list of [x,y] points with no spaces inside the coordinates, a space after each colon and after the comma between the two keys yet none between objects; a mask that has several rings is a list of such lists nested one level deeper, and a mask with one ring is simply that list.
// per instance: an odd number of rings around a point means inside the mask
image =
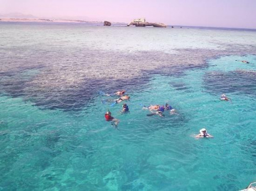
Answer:
[{"label": "clear turquoise sea with dark reef patches surrounding the snorkelers", "polygon": [[244,189],[255,100],[256,30],[0,22],[0,190]]}]

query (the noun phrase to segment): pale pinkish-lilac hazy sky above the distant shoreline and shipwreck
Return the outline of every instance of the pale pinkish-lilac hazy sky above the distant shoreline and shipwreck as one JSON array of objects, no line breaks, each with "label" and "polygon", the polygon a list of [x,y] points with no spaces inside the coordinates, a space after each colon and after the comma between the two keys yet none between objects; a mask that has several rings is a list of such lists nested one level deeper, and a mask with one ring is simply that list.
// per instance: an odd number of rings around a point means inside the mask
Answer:
[{"label": "pale pinkish-lilac hazy sky above the distant shoreline and shipwreck", "polygon": [[0,15],[15,12],[41,18],[146,18],[167,25],[256,29],[256,0],[0,0]]}]

